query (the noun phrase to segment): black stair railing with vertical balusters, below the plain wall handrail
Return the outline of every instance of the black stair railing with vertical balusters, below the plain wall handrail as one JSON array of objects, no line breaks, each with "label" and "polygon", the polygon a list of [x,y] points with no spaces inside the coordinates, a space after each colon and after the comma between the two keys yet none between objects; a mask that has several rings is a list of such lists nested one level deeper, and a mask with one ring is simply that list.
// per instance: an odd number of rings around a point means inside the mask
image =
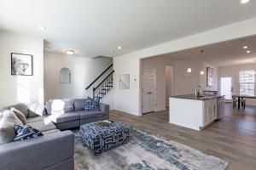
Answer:
[{"label": "black stair railing with vertical balusters, below the plain wall handrail", "polygon": [[114,71],[111,71],[108,74],[108,77],[102,80],[96,88],[93,88],[93,99],[101,101],[113,88],[113,72]]}]

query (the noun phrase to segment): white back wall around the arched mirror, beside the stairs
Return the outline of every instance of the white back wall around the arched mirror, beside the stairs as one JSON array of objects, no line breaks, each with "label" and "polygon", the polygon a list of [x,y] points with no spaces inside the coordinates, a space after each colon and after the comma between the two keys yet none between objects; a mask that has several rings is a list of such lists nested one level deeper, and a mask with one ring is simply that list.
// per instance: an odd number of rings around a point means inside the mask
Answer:
[{"label": "white back wall around the arched mirror, beside the stairs", "polygon": [[[85,88],[112,63],[113,59],[107,57],[88,59],[46,52],[44,54],[45,100],[92,96],[92,87],[88,90]],[[59,83],[59,71],[63,67],[71,70],[71,83]],[[109,71],[103,77],[106,77]],[[94,86],[96,87],[102,79]]]}]

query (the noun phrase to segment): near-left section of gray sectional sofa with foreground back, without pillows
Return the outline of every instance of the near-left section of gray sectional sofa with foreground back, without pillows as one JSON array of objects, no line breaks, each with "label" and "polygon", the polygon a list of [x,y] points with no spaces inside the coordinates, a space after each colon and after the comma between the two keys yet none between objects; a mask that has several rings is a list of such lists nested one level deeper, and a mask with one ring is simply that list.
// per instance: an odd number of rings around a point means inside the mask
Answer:
[{"label": "near-left section of gray sectional sofa with foreground back, without pillows", "polygon": [[0,111],[9,110],[10,107],[21,111],[26,116],[26,124],[37,128],[44,136],[0,144],[0,169],[73,170],[73,133],[61,132],[53,122],[45,120],[45,116],[38,116],[24,104],[10,105]]}]

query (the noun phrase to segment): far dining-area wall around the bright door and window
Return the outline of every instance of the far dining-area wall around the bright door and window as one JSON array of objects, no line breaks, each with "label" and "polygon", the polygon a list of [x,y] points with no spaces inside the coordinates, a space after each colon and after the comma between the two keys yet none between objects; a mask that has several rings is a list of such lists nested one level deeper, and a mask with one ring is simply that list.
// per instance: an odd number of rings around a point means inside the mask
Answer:
[{"label": "far dining-area wall around the bright door and window", "polygon": [[[220,79],[220,77],[232,77],[234,88],[233,94],[239,94],[239,71],[255,70],[254,67],[253,64],[218,67],[218,79]],[[218,90],[220,91],[220,89]],[[247,105],[256,105],[255,99],[246,100]]]}]

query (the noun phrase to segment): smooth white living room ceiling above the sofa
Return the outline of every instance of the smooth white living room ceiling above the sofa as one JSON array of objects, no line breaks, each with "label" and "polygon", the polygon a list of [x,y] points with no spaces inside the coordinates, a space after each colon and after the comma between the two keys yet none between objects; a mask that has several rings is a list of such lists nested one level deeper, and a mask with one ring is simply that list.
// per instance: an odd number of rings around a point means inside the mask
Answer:
[{"label": "smooth white living room ceiling above the sofa", "polygon": [[51,51],[112,57],[256,17],[255,9],[255,0],[0,0],[0,29],[44,37]]}]

